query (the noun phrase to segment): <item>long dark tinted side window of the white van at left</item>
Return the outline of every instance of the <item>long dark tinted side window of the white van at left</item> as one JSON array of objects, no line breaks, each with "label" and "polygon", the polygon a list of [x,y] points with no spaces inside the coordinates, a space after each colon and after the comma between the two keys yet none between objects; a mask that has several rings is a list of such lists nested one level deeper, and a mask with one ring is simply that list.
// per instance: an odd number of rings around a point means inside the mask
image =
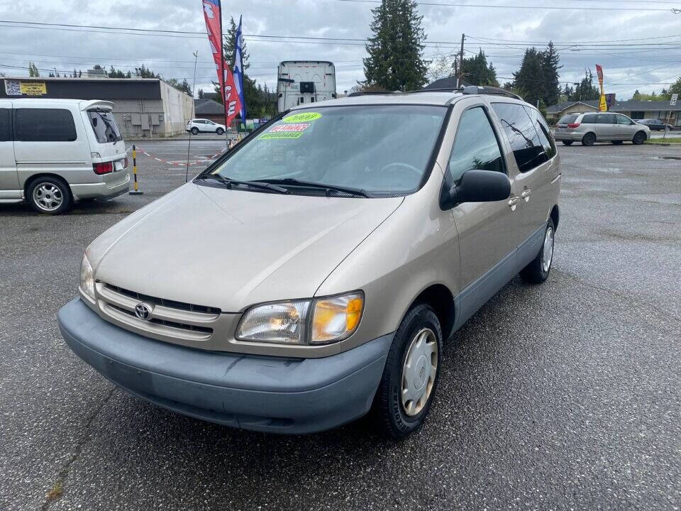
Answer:
[{"label": "long dark tinted side window of the white van at left", "polygon": [[67,109],[16,109],[16,133],[19,142],[73,142],[76,125]]}]

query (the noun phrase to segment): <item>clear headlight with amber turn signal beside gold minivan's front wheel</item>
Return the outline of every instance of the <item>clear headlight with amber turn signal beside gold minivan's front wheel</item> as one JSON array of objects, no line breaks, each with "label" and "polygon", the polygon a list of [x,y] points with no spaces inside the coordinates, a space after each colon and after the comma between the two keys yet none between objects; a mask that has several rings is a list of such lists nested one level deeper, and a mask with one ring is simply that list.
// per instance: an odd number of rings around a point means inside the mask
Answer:
[{"label": "clear headlight with amber turn signal beside gold minivan's front wheel", "polygon": [[236,338],[278,344],[338,342],[355,332],[363,309],[362,292],[256,305],[241,318]]}]

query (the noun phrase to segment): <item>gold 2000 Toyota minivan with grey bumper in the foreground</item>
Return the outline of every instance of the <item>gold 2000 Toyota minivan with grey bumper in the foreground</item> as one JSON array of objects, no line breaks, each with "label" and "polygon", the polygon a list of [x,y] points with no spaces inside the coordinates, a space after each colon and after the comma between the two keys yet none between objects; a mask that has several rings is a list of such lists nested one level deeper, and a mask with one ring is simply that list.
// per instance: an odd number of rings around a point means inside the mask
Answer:
[{"label": "gold 2000 Toyota minivan with grey bumper in the foreground", "polygon": [[426,418],[443,342],[548,277],[560,160],[513,94],[301,105],[87,248],[72,350],[170,410],[301,434]]}]

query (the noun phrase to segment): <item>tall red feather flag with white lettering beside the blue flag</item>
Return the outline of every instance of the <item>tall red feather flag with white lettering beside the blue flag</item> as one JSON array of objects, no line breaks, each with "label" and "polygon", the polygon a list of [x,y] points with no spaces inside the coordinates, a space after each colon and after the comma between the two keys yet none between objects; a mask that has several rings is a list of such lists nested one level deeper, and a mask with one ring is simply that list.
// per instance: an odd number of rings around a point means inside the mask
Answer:
[{"label": "tall red feather flag with white lettering beside the blue flag", "polygon": [[218,72],[218,84],[222,91],[222,101],[226,105],[225,126],[229,126],[238,115],[241,104],[232,75],[222,51],[222,11],[220,0],[201,0],[204,6],[206,31],[211,43],[211,52]]}]

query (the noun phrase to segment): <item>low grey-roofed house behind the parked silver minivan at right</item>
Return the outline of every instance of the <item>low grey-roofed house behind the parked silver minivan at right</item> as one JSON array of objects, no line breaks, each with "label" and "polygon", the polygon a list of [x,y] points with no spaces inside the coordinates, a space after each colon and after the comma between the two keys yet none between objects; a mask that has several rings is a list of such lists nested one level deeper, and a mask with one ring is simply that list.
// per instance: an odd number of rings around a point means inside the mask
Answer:
[{"label": "low grey-roofed house behind the parked silver minivan at right", "polygon": [[[577,112],[598,111],[598,100],[567,101],[551,105],[546,109],[546,118],[550,123],[567,114]],[[608,111],[624,114],[631,119],[660,119],[672,126],[681,127],[681,102],[670,106],[669,101],[613,101]]]}]

